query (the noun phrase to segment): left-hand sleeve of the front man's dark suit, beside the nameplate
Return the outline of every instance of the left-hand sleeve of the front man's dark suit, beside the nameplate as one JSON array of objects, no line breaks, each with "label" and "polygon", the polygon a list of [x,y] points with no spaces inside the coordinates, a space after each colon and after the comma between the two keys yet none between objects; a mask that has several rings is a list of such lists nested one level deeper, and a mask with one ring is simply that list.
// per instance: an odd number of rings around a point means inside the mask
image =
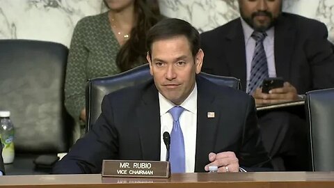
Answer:
[{"label": "left-hand sleeve of the front man's dark suit, beside the nameplate", "polygon": [[52,173],[100,173],[103,159],[117,158],[118,134],[113,126],[110,103],[107,95],[102,101],[102,113],[93,129],[56,163]]}]

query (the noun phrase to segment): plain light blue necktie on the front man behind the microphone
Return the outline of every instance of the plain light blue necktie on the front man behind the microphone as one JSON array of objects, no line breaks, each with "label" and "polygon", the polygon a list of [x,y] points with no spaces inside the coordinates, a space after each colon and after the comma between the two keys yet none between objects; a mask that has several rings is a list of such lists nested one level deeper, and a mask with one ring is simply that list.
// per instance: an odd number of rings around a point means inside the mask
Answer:
[{"label": "plain light blue necktie on the front man behind the microphone", "polygon": [[184,139],[179,122],[184,108],[175,106],[169,110],[173,116],[173,129],[170,132],[170,170],[172,173],[184,173],[186,171],[186,157],[184,154]]}]

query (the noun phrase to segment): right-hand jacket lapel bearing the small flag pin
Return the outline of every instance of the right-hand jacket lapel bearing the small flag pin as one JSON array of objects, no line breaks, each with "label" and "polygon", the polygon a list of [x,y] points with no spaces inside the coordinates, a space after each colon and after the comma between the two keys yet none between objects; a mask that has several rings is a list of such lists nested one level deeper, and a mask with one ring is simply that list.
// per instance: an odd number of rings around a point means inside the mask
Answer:
[{"label": "right-hand jacket lapel bearing the small flag pin", "polygon": [[196,132],[196,158],[195,171],[204,171],[204,166],[209,163],[209,152],[214,151],[216,143],[216,129],[218,117],[207,118],[207,112],[214,112],[217,116],[220,112],[213,105],[215,96],[210,91],[210,83],[203,79],[196,79],[198,87],[197,103],[197,132]]}]

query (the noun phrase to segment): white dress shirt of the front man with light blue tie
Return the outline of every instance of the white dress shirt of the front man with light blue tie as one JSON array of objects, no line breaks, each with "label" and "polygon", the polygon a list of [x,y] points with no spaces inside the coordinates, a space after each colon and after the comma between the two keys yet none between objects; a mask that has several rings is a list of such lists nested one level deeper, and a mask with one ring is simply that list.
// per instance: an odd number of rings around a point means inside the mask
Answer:
[{"label": "white dress shirt of the front man with light blue tie", "polygon": [[[160,160],[166,161],[166,146],[163,139],[164,132],[170,132],[173,129],[173,117],[168,112],[176,105],[167,100],[159,93],[160,120],[161,120],[161,151]],[[184,108],[179,121],[184,137],[184,152],[186,157],[186,173],[195,171],[196,155],[196,131],[197,131],[197,85],[193,88],[190,95],[180,104]]]}]

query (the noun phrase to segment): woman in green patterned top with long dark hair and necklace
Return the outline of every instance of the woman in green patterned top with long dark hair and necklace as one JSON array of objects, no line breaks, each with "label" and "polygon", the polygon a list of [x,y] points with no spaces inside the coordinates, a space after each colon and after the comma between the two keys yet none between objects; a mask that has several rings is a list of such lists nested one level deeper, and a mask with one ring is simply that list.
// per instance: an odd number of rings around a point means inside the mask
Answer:
[{"label": "woman in green patterned top with long dark hair and necklace", "polygon": [[75,26],[67,60],[65,107],[81,125],[86,121],[86,81],[146,63],[145,33],[162,18],[153,1],[104,3],[109,11],[84,17]]}]

